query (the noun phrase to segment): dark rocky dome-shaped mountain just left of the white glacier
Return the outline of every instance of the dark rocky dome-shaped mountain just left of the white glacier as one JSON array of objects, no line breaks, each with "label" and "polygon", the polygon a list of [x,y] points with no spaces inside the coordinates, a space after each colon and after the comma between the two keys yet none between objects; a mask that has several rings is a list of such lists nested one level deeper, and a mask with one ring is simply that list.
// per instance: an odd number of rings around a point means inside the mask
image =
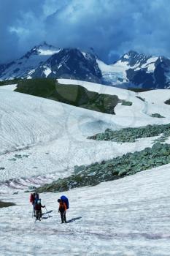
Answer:
[{"label": "dark rocky dome-shaped mountain just left of the white glacier", "polygon": [[99,82],[101,71],[95,56],[77,49],[63,49],[53,54],[31,75],[32,78],[77,78]]}]

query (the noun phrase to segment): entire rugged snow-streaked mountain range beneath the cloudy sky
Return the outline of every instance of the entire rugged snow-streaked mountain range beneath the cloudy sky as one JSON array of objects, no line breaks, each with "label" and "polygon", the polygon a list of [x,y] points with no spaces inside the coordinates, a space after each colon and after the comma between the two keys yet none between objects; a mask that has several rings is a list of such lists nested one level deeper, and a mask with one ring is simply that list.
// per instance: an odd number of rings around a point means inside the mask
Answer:
[{"label": "entire rugged snow-streaked mountain range beneath the cloudy sky", "polygon": [[170,88],[170,59],[129,50],[106,64],[94,50],[56,48],[43,42],[20,59],[0,65],[0,80],[70,78],[121,88]]}]

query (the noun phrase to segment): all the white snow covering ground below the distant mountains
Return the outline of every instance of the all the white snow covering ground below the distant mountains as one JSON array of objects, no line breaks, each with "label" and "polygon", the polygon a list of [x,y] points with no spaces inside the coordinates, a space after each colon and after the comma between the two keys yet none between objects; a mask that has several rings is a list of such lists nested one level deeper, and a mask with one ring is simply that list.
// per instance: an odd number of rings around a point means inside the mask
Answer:
[{"label": "all the white snow covering ground below the distant mountains", "polygon": [[[0,87],[0,195],[17,204],[0,208],[0,255],[169,256],[170,165],[64,193],[70,201],[68,224],[60,224],[61,194],[42,194],[49,215],[44,210],[42,222],[34,223],[29,195],[23,192],[28,185],[69,176],[74,165],[139,151],[155,140],[115,143],[87,140],[88,135],[108,127],[170,122],[170,106],[163,103],[170,98],[169,90],[135,94],[81,81],[62,82],[117,94],[133,105],[117,105],[112,116]],[[155,110],[166,117],[150,117]]]}]

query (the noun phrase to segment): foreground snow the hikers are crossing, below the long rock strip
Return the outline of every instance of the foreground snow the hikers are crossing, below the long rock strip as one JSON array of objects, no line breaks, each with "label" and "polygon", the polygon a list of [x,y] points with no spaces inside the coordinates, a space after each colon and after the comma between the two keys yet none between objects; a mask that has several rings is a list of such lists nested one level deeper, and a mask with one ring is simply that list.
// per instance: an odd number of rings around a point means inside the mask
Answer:
[{"label": "foreground snow the hikers are crossing, below the long rock strip", "polygon": [[66,192],[67,224],[60,224],[61,194],[41,195],[50,212],[36,223],[28,193],[4,195],[17,206],[0,208],[1,256],[169,256],[169,169]]}]

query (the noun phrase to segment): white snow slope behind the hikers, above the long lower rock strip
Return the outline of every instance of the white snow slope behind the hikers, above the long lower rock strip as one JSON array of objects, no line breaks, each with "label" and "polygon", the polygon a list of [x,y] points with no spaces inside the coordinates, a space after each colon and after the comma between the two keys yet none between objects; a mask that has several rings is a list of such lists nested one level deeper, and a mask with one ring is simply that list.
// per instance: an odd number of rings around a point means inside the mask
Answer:
[{"label": "white snow slope behind the hikers, above the long lower rock strip", "polygon": [[[74,165],[89,165],[104,159],[121,156],[128,151],[140,151],[152,146],[155,138],[143,138],[135,143],[88,140],[89,135],[107,128],[139,127],[170,122],[169,90],[133,91],[75,80],[88,90],[116,94],[130,100],[130,107],[118,104],[116,115],[76,108],[49,99],[19,94],[11,86],[0,87],[0,191],[4,187],[25,189],[29,184],[43,184],[68,176]],[[143,102],[136,96],[146,99]],[[160,100],[157,100],[157,97]],[[154,104],[152,104],[154,103]],[[160,113],[165,118],[152,118]]]}]

